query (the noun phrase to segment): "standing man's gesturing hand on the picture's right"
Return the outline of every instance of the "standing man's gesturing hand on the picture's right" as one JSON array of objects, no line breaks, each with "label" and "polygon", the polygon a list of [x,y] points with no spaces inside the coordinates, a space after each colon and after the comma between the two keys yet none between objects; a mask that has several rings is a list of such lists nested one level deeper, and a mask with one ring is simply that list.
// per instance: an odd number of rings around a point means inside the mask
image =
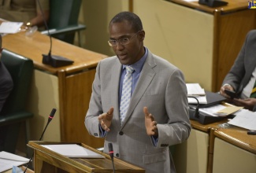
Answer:
[{"label": "standing man's gesturing hand on the picture's right", "polygon": [[158,136],[157,122],[154,120],[154,116],[148,112],[147,107],[143,108],[145,114],[145,127],[147,130],[147,135]]}]

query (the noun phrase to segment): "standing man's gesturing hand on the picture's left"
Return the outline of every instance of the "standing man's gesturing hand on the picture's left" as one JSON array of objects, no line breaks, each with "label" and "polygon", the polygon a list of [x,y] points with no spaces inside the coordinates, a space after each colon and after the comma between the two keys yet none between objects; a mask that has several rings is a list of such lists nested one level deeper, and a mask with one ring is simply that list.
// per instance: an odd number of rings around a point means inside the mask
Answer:
[{"label": "standing man's gesturing hand on the picture's left", "polygon": [[109,109],[108,112],[102,113],[100,116],[98,116],[98,123],[101,124],[102,129],[105,131],[110,131],[109,127],[112,123],[113,119],[113,107]]}]

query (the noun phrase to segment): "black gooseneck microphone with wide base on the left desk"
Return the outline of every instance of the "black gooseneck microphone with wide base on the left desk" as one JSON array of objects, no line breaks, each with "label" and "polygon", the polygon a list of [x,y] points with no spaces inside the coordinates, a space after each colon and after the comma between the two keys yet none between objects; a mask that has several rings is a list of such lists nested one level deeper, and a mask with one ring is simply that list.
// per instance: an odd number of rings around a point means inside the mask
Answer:
[{"label": "black gooseneck microphone with wide base on the left desk", "polygon": [[39,9],[42,13],[43,23],[44,23],[44,25],[46,27],[46,31],[47,31],[47,33],[50,37],[50,50],[49,50],[48,54],[43,54],[43,64],[50,64],[54,68],[58,68],[58,67],[62,67],[62,66],[65,66],[65,65],[72,64],[74,61],[69,60],[68,58],[60,57],[60,56],[56,56],[56,55],[51,54],[52,39],[51,39],[50,31],[49,31],[49,28],[48,28],[48,24],[46,22],[46,18],[45,18],[44,13],[43,13],[42,6],[41,6],[39,0],[37,0],[37,2],[39,4]]}]

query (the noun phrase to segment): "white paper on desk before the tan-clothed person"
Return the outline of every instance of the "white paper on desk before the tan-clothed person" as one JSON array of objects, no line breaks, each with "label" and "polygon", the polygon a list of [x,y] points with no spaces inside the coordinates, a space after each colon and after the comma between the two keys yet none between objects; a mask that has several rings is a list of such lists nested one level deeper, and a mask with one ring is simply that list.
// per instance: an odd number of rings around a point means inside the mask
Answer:
[{"label": "white paper on desk before the tan-clothed person", "polygon": [[2,22],[0,25],[0,33],[15,34],[20,31],[23,22]]}]

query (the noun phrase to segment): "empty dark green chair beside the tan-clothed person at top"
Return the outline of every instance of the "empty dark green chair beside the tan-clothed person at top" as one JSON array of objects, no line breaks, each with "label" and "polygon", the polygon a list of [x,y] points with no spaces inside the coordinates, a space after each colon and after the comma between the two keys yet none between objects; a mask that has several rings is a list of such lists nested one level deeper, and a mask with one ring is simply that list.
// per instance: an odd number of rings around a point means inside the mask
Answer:
[{"label": "empty dark green chair beside the tan-clothed person at top", "polygon": [[[86,26],[78,24],[81,0],[50,0],[50,18],[48,28],[50,35],[56,39],[73,44],[75,33],[78,33],[79,46],[80,31]],[[48,35],[48,31],[41,33]]]}]

